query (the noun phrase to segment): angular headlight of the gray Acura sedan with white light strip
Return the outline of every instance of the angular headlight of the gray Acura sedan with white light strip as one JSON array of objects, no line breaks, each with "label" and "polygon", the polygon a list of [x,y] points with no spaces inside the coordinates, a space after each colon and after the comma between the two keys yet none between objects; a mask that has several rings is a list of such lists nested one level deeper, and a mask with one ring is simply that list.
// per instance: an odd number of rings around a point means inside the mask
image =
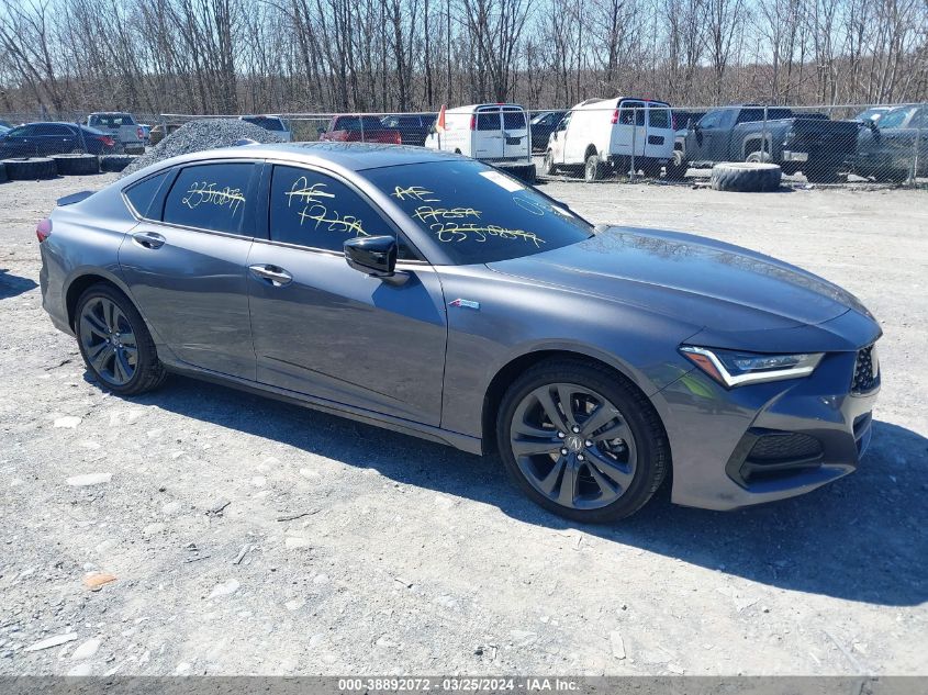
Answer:
[{"label": "angular headlight of the gray Acura sedan with white light strip", "polygon": [[692,345],[682,346],[680,352],[728,389],[763,381],[808,377],[825,356],[824,352],[761,355]]}]

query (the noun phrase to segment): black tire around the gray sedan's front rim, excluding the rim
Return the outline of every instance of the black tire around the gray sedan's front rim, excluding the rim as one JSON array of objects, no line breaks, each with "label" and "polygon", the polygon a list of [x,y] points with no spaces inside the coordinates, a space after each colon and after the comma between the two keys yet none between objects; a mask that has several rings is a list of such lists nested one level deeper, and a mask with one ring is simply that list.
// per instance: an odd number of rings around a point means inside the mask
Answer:
[{"label": "black tire around the gray sedan's front rim, excluding the rim", "polygon": [[[577,383],[611,401],[618,408],[635,437],[638,460],[631,485],[618,500],[604,507],[571,509],[549,500],[525,479],[510,447],[512,419],[518,404],[535,389],[558,381]],[[549,369],[536,368],[517,379],[506,391],[500,404],[496,418],[496,444],[507,475],[522,492],[549,512],[577,522],[603,524],[634,514],[651,497],[655,490],[655,475],[660,474],[662,477],[662,472],[656,471],[655,460],[658,455],[658,442],[652,433],[652,427],[641,413],[640,403],[630,393],[629,386],[623,384],[618,379],[604,380],[602,371],[582,363],[551,366]]]}]

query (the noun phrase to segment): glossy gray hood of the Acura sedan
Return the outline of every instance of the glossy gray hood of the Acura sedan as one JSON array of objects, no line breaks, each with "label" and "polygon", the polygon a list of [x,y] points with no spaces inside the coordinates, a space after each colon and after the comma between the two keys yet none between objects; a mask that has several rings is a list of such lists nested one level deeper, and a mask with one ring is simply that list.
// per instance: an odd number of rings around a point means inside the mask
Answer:
[{"label": "glossy gray hood of the Acura sedan", "polygon": [[489,267],[714,332],[823,324],[851,309],[870,316],[841,288],[746,248],[677,232],[596,231],[585,242]]}]

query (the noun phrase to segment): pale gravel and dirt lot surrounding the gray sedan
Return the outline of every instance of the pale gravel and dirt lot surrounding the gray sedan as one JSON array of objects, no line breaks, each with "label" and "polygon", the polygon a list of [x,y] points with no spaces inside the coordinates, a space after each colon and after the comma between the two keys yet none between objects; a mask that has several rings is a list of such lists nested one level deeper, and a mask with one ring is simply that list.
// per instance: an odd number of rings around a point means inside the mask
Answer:
[{"label": "pale gravel and dirt lot surrounding the gray sedan", "polygon": [[928,673],[925,191],[548,183],[809,268],[885,332],[854,475],[577,528],[494,459],[187,379],[102,393],[40,306],[33,229],[107,180],[0,186],[0,674]]}]

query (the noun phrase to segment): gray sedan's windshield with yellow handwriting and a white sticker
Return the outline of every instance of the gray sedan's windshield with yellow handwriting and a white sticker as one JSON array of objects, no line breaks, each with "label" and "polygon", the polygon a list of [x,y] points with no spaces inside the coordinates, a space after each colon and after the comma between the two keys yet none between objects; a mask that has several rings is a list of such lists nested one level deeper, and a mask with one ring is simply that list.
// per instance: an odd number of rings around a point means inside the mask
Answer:
[{"label": "gray sedan's windshield with yellow handwriting and a white sticker", "polygon": [[540,254],[593,233],[566,206],[479,161],[402,165],[365,176],[459,266]]}]

